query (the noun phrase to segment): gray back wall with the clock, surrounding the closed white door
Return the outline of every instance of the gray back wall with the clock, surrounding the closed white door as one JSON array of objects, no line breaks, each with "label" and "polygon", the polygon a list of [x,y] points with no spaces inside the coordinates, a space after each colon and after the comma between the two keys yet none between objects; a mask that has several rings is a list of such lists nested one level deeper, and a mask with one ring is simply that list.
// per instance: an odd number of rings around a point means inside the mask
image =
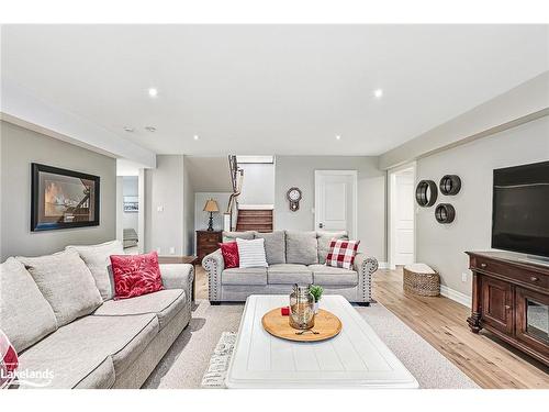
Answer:
[{"label": "gray back wall with the clock, surrounding the closed white door", "polygon": [[[366,156],[277,156],[274,177],[274,226],[314,230],[314,171],[358,170],[358,238],[360,250],[386,261],[385,172],[377,157]],[[300,210],[291,212],[285,193],[291,187],[303,192]]]}]

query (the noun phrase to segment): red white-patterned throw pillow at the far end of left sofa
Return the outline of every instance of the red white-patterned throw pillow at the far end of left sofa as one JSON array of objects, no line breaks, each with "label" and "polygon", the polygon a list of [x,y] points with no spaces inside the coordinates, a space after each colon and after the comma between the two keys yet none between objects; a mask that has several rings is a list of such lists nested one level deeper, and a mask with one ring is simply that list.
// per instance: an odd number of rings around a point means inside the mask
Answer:
[{"label": "red white-patterned throw pillow at the far end of left sofa", "polygon": [[114,299],[135,298],[163,290],[158,254],[112,255]]}]

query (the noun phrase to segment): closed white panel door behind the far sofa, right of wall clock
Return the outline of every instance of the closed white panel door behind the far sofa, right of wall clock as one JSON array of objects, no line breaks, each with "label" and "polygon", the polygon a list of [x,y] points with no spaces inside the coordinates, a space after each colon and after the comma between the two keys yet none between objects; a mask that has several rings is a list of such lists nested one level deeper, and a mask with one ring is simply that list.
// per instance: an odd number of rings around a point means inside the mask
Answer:
[{"label": "closed white panel door behind the far sofa, right of wall clock", "polygon": [[357,236],[357,171],[315,170],[315,230]]}]

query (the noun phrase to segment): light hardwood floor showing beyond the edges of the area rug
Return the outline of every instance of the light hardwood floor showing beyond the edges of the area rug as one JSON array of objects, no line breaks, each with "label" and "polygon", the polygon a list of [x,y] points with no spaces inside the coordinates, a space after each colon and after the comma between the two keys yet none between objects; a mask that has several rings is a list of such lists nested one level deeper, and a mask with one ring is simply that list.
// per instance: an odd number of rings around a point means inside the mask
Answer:
[{"label": "light hardwood floor showing beyond the edges of the area rug", "polygon": [[[208,299],[208,279],[197,266],[197,299]],[[470,332],[469,308],[450,299],[404,293],[402,270],[378,270],[373,298],[399,316],[482,388],[549,389],[549,368],[489,333]]]}]

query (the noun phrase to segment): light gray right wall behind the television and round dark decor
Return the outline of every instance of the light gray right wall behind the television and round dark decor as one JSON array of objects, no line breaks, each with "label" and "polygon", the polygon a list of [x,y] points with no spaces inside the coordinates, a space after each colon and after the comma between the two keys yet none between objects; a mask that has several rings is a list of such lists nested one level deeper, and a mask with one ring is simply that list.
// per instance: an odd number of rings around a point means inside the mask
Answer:
[{"label": "light gray right wall behind the television and round dark decor", "polygon": [[[464,250],[488,250],[491,244],[492,172],[494,168],[549,159],[549,116],[417,160],[417,180],[437,183],[444,175],[461,177],[457,196],[440,196],[437,203],[456,208],[456,220],[438,224],[433,208],[418,208],[417,261],[440,272],[442,285],[471,294],[471,275]],[[461,274],[468,272],[466,282]]]}]

